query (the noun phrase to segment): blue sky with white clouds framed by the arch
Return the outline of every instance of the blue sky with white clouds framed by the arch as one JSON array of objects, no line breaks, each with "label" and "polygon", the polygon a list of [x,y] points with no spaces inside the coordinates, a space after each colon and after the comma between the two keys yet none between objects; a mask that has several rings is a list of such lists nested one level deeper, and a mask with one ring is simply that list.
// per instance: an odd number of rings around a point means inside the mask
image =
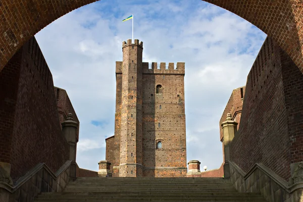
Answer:
[{"label": "blue sky with white clouds framed by the arch", "polygon": [[187,162],[222,164],[219,120],[266,34],[200,0],[102,0],[79,8],[36,34],[55,86],[64,88],[80,120],[77,163],[98,170],[105,138],[114,135],[115,62],[122,41],[143,41],[144,62],[185,62]]}]

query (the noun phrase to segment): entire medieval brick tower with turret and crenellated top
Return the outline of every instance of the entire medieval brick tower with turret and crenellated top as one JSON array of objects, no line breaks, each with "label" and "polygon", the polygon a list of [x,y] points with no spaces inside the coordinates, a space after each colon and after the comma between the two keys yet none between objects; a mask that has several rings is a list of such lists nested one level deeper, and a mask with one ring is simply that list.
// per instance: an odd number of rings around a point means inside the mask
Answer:
[{"label": "entire medieval brick tower with turret and crenellated top", "polygon": [[116,62],[115,135],[106,139],[113,177],[185,177],[185,64],[142,62],[143,43],[122,44]]}]

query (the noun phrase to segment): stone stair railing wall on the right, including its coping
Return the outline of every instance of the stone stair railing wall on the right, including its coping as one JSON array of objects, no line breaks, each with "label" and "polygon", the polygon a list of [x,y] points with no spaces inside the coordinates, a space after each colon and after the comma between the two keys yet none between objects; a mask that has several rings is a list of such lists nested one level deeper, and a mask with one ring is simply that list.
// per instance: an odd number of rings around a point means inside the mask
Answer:
[{"label": "stone stair railing wall on the right, including its coping", "polygon": [[261,163],[255,164],[247,173],[234,162],[228,163],[230,181],[239,192],[261,192],[270,202],[303,201],[303,181],[299,181],[303,162],[294,169],[290,183]]}]

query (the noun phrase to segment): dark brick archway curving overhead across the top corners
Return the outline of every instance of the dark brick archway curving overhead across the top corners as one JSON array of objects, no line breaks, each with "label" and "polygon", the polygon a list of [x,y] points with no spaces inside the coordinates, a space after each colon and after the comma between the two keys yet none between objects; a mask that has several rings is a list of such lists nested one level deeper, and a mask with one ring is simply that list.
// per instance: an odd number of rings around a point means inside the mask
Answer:
[{"label": "dark brick archway curving overhead across the top corners", "polygon": [[[68,12],[97,0],[3,0],[0,2],[0,71],[30,37]],[[303,72],[301,0],[205,0],[256,25],[272,37]]]}]

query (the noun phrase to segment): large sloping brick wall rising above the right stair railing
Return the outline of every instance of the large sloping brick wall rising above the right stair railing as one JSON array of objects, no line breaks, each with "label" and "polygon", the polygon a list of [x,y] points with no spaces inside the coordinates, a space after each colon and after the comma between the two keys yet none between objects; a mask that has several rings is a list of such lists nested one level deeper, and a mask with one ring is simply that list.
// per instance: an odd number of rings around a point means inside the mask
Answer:
[{"label": "large sloping brick wall rising above the right stair railing", "polygon": [[300,71],[268,37],[248,74],[241,123],[231,142],[231,160],[244,172],[263,163],[288,180],[290,163],[302,160],[301,86]]}]

